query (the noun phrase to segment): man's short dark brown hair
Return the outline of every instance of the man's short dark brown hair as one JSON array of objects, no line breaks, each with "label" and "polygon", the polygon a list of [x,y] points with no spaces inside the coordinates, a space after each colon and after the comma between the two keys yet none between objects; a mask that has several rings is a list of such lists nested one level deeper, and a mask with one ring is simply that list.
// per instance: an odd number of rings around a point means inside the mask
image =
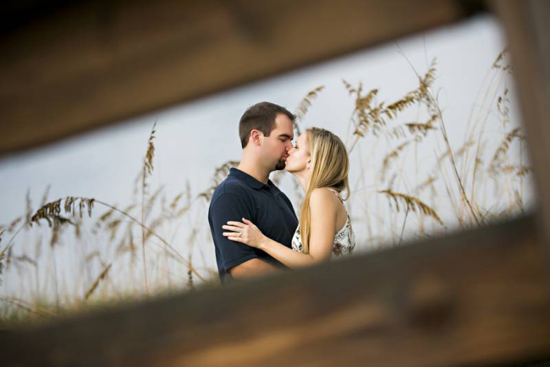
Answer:
[{"label": "man's short dark brown hair", "polygon": [[248,107],[239,121],[239,136],[241,147],[246,147],[250,132],[260,130],[264,136],[270,136],[275,127],[275,118],[278,114],[285,114],[294,124],[296,116],[285,107],[270,102],[260,102]]}]

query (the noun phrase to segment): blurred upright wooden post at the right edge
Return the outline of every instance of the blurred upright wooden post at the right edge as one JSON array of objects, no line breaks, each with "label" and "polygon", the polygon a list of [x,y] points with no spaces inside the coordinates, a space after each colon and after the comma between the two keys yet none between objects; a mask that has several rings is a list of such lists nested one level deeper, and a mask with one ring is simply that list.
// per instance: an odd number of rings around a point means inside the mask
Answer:
[{"label": "blurred upright wooden post at the right edge", "polygon": [[538,189],[539,224],[550,244],[550,2],[492,5],[506,32]]}]

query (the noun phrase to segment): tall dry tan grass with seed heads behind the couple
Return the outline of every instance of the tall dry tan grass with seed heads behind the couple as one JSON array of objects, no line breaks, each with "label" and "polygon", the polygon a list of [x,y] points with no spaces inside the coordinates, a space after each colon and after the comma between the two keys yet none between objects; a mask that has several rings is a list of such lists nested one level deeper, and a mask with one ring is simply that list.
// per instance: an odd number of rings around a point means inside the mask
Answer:
[{"label": "tall dry tan grass with seed heads behind the couple", "polygon": [[[526,210],[531,167],[525,162],[525,134],[511,121],[506,51],[489,70],[489,83],[477,97],[458,147],[452,147],[456,138],[448,135],[448,122],[433,92],[435,60],[423,75],[411,68],[417,87],[389,103],[379,100],[380,88],[367,90],[363,83],[342,81],[353,99],[347,146],[358,162],[352,167],[358,174],[349,210],[369,249],[483,225]],[[297,104],[296,134],[323,89],[311,90]],[[404,119],[411,109],[417,118]],[[486,135],[494,116],[502,137],[492,146],[495,134]],[[212,184],[199,193],[192,195],[186,185],[168,198],[164,187],[149,184],[155,174],[155,128],[156,122],[146,140],[142,170],[133,180],[132,202],[119,206],[75,196],[51,200],[48,187],[36,209],[28,193],[23,216],[0,226],[0,282],[3,289],[8,282],[21,284],[15,292],[0,294],[3,324],[217,286],[215,264],[203,255],[205,247],[213,247],[205,208],[239,162],[228,160],[215,168]],[[432,151],[427,162],[418,156],[425,147]],[[519,159],[510,154],[512,148]],[[415,167],[414,175],[404,167]],[[283,172],[272,175],[276,184],[284,179]],[[290,196],[298,209],[303,196],[293,183]],[[498,200],[487,195],[487,187]],[[183,224],[191,227],[185,235],[179,233]],[[59,262],[67,261],[67,247],[75,249],[70,259],[76,265],[70,274],[72,289],[64,282],[67,273],[59,269]]]}]

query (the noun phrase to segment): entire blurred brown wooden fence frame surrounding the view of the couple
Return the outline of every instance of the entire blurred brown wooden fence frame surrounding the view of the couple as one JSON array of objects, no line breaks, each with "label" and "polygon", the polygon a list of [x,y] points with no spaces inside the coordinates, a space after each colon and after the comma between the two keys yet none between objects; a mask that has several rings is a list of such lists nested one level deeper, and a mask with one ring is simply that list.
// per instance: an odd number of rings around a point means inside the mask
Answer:
[{"label": "entire blurred brown wooden fence frame surrounding the view of the couple", "polygon": [[488,8],[507,32],[540,206],[345,262],[3,332],[4,366],[487,366],[550,358],[549,2],[23,4],[1,13],[9,20],[0,40],[4,158]]}]

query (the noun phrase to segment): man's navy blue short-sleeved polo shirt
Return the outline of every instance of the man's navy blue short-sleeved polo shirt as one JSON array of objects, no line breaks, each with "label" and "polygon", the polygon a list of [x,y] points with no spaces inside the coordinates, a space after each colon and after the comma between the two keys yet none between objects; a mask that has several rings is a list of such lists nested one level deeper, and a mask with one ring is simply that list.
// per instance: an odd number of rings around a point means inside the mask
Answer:
[{"label": "man's navy blue short-sleeved polo shirt", "polygon": [[223,237],[221,233],[225,230],[221,226],[228,220],[242,222],[241,218],[252,221],[268,238],[287,247],[291,247],[292,235],[298,227],[290,200],[271,180],[265,185],[239,169],[230,169],[228,177],[214,191],[208,209],[222,284],[231,279],[229,269],[251,259],[283,266],[264,251]]}]

